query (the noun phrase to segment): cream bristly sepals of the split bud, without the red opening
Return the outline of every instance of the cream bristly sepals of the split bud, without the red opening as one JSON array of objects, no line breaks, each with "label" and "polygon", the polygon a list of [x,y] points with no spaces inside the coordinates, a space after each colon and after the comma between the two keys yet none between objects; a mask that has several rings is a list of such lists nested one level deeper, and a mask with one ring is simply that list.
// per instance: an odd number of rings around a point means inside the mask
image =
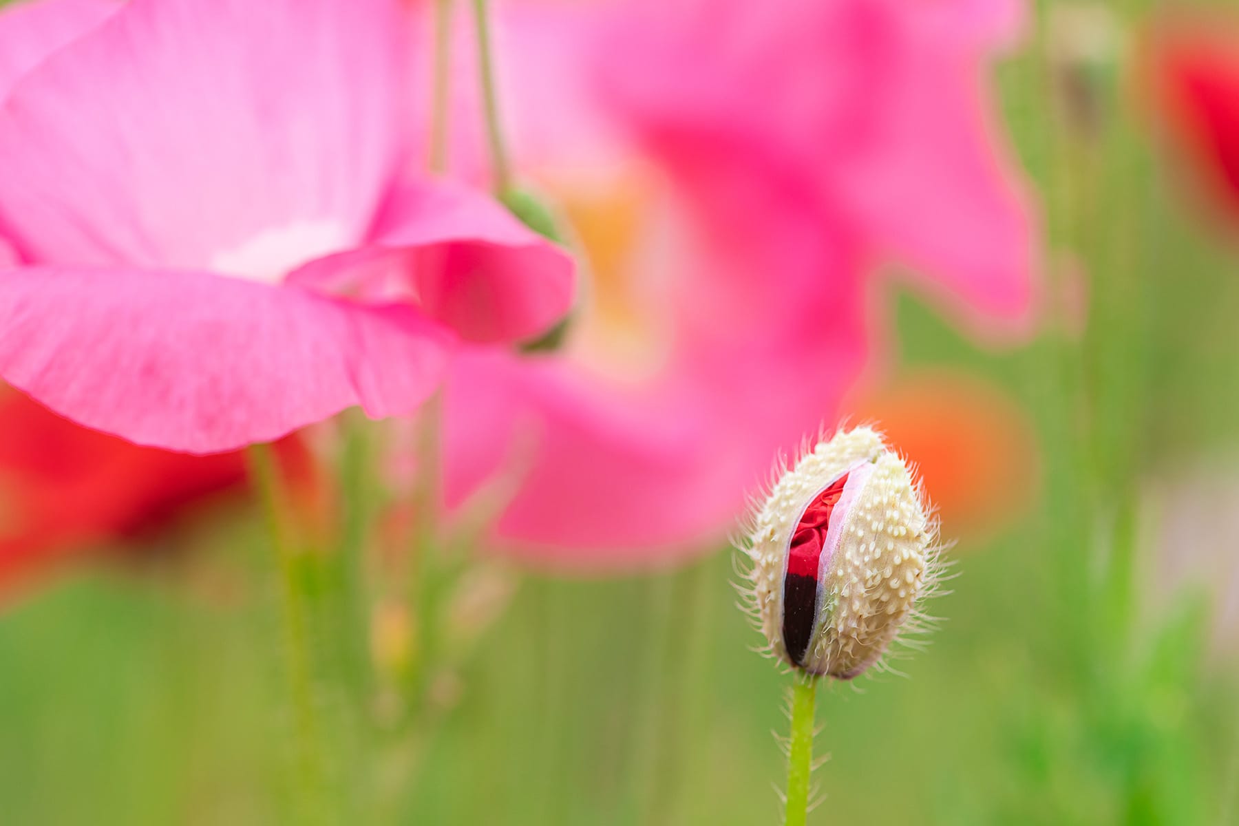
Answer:
[{"label": "cream bristly sepals of the split bud, without the red opening", "polygon": [[[792,534],[809,502],[840,474],[869,466],[862,485],[838,511],[839,541],[823,554],[820,608],[804,663],[783,643],[783,578]],[[844,504],[844,503],[840,503]],[[834,521],[834,519],[831,521]],[[750,565],[743,588],[771,654],[814,674],[851,679],[877,664],[902,633],[919,630],[918,603],[940,565],[935,525],[898,454],[870,427],[840,431],[776,468],[767,495],[756,498],[741,550]]]}]

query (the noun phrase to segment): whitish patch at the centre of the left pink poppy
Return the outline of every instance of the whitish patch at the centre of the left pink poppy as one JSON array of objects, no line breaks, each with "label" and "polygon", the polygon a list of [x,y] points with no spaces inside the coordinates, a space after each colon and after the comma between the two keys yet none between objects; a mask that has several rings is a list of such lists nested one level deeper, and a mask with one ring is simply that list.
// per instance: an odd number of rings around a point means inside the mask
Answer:
[{"label": "whitish patch at the centre of the left pink poppy", "polygon": [[353,233],[338,220],[295,220],[263,229],[237,246],[217,253],[211,259],[211,269],[237,279],[279,284],[301,264],[338,253],[354,241]]}]

